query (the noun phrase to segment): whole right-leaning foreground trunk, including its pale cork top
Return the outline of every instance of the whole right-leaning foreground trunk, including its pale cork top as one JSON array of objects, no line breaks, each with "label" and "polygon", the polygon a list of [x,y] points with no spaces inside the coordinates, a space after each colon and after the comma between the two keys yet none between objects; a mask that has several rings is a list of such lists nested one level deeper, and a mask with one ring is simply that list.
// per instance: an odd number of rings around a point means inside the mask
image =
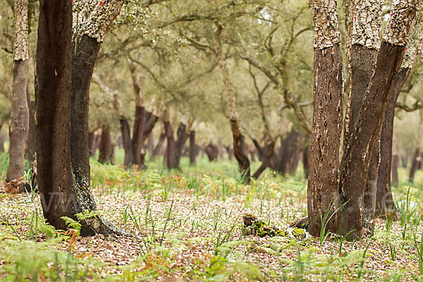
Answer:
[{"label": "whole right-leaning foreground trunk, including its pale cork top", "polygon": [[341,209],[339,227],[344,234],[352,231],[351,236],[355,238],[361,238],[374,219],[372,209],[364,204],[366,196],[369,196],[366,195],[368,176],[369,171],[374,169],[372,158],[379,150],[386,106],[403,60],[416,7],[417,0],[393,3],[393,16],[386,25],[376,68],[341,161],[340,192],[345,208]]}]

